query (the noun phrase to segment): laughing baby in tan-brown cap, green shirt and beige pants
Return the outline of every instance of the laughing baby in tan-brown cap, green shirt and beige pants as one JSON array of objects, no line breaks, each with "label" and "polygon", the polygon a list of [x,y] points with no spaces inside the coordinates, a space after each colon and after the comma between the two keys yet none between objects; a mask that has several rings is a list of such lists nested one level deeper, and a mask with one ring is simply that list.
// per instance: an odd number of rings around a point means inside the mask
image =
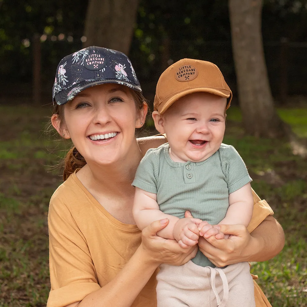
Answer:
[{"label": "laughing baby in tan-brown cap, green shirt and beige pants", "polygon": [[[222,73],[210,62],[183,59],[162,73],[152,116],[168,143],[147,151],[132,184],[133,215],[141,230],[168,218],[157,235],[189,248],[199,236],[208,238],[212,225],[247,227],[251,178],[235,148],[222,143],[231,98]],[[184,217],[186,210],[193,218]],[[247,262],[217,268],[198,251],[183,266],[162,264],[157,282],[158,307],[255,306]]]}]

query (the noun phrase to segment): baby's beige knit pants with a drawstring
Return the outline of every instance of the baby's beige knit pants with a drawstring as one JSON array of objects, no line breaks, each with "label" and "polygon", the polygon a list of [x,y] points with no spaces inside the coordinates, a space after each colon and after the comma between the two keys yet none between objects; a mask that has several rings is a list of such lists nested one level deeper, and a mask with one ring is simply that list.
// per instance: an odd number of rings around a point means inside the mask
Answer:
[{"label": "baby's beige knit pants with a drawstring", "polygon": [[161,264],[157,274],[158,307],[255,307],[248,262],[224,269]]}]

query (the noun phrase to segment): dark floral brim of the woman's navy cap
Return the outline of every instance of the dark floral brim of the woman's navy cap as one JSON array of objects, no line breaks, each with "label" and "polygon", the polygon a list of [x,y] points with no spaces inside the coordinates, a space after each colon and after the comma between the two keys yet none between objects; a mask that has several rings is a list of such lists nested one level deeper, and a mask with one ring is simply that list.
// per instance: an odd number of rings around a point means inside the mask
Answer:
[{"label": "dark floral brim of the woman's navy cap", "polygon": [[[83,81],[79,84],[74,84],[67,89],[60,91],[57,93],[53,98],[53,103],[57,103],[58,105],[63,105],[68,101],[74,99],[76,95],[78,95],[81,91],[85,90],[88,87],[92,87],[99,84],[106,84],[106,83],[114,83],[124,85],[126,87],[131,88],[134,91],[142,92],[142,88],[136,84],[128,83],[125,81],[119,81],[118,79],[109,79],[109,80],[95,80],[95,81]],[[69,93],[72,92],[70,95]]]}]

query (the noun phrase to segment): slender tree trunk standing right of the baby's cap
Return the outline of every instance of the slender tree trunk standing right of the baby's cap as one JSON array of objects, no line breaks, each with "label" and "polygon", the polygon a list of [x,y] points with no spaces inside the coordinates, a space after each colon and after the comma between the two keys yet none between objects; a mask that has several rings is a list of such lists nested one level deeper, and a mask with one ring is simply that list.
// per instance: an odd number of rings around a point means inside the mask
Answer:
[{"label": "slender tree trunk standing right of the baby's cap", "polygon": [[270,90],[261,34],[262,0],[229,0],[232,51],[243,125],[258,137],[284,137]]}]

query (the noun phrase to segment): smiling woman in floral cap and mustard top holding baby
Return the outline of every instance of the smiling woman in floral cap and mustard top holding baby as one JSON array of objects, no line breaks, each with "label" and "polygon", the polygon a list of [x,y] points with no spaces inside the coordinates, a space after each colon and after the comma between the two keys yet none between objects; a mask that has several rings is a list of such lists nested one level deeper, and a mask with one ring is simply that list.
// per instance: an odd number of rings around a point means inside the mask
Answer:
[{"label": "smiling woman in floral cap and mustard top holding baby", "polygon": [[[182,249],[156,236],[168,220],[155,221],[142,233],[135,225],[135,171],[146,150],[165,139],[135,139],[147,104],[130,60],[101,47],[66,56],[58,66],[53,101],[52,125],[75,147],[65,160],[65,182],[50,200],[47,306],[155,307],[156,268],[184,264],[197,248]],[[217,266],[267,260],[282,249],[282,228],[265,202],[255,202],[251,235],[241,225],[225,225],[220,231],[233,239],[200,239],[200,250]]]}]

